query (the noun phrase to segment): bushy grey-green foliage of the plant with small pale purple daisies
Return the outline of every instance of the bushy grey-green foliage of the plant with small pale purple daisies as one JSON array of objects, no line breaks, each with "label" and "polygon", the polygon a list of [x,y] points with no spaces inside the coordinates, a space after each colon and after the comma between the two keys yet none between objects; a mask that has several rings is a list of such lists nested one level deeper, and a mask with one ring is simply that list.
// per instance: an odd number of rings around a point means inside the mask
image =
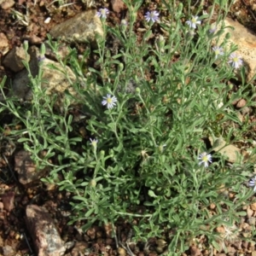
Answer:
[{"label": "bushy grey-green foliage of the plant with small pale purple daisies", "polygon": [[[86,230],[95,221],[136,219],[137,237],[169,234],[169,252],[183,252],[189,239],[200,234],[216,244],[214,228],[238,220],[242,212],[237,209],[252,195],[242,184],[249,172],[226,166],[218,154],[208,168],[197,160],[201,152],[211,151],[203,138],[228,137],[225,122],[244,129],[231,107],[233,96],[228,100],[227,81],[234,74],[226,62],[233,49],[215,65],[211,41],[219,32],[210,34],[206,23],[191,37],[181,22],[181,5],[172,22],[160,23],[165,38],[149,40],[154,26],[148,26],[138,44],[132,27],[141,3],[127,3],[131,20],[126,29],[102,20],[106,37],[118,39],[119,51],[111,52],[106,38],[97,38],[97,68],[86,64],[90,49],[82,58],[71,49],[66,60],[58,60],[77,76],[73,87],[86,116],[86,141],[73,132],[72,96],[67,94],[62,112],[55,113],[54,100],[40,86],[42,73],[31,78],[34,98],[26,112],[13,99],[2,106],[25,125],[19,141],[38,167],[50,166],[43,181],[73,193],[70,224],[83,220]],[[49,45],[57,53],[58,44],[49,40]],[[102,106],[107,94],[118,99],[113,109]],[[89,138],[98,140],[96,146]],[[224,194],[229,190],[238,193],[236,203]]]}]

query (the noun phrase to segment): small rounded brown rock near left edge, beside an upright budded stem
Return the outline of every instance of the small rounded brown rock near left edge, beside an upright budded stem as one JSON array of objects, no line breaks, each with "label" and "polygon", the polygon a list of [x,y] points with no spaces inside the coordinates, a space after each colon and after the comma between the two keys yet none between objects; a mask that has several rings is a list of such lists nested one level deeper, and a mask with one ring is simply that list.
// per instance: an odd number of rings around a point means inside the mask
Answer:
[{"label": "small rounded brown rock near left edge, beside an upright budded stem", "polygon": [[[30,56],[27,55],[28,61],[30,60]],[[8,67],[14,72],[19,72],[24,68],[24,64],[22,61],[26,60],[26,51],[22,46],[15,47],[9,51],[9,53],[5,56],[3,60],[3,66]]]}]

